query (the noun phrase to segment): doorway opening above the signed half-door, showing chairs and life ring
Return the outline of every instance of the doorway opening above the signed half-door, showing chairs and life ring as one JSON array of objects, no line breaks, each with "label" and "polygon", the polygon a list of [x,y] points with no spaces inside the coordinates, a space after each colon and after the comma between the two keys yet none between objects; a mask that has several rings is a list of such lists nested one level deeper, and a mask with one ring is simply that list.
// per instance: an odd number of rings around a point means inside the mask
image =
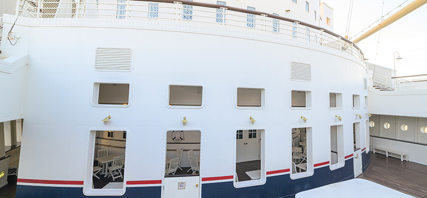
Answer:
[{"label": "doorway opening above the signed half-door, showing chairs and life ring", "polygon": [[200,131],[167,131],[165,177],[200,174]]}]

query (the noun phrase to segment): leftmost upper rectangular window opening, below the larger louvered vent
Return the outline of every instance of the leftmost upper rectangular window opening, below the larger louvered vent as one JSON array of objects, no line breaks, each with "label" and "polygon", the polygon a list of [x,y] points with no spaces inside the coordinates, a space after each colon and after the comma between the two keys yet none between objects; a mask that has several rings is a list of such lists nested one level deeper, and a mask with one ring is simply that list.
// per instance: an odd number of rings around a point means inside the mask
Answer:
[{"label": "leftmost upper rectangular window opening, below the larger louvered vent", "polygon": [[95,106],[129,106],[130,84],[94,83],[92,104]]}]

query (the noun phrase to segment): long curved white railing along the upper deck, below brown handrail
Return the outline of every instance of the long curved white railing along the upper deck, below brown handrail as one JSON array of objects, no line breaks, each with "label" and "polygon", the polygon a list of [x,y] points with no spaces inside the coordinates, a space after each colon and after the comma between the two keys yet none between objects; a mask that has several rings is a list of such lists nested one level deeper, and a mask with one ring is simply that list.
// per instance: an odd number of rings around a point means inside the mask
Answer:
[{"label": "long curved white railing along the upper deck, below brown handrail", "polygon": [[[164,1],[164,0],[163,0]],[[144,0],[24,0],[17,1],[16,13],[29,18],[84,18],[127,21],[165,20],[213,24],[280,35],[313,45],[336,49],[363,61],[363,53],[352,42],[319,27],[288,18],[228,6],[190,1]],[[188,4],[186,4],[188,3]],[[199,6],[203,5],[203,6]],[[216,6],[216,7],[215,7]],[[231,10],[234,9],[234,10]],[[237,11],[236,11],[237,10]]]}]

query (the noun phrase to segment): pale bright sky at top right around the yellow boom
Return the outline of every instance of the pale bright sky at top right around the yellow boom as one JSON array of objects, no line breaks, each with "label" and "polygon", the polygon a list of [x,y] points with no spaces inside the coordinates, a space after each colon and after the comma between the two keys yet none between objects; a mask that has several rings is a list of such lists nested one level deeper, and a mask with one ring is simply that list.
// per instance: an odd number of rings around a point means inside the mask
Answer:
[{"label": "pale bright sky at top right around the yellow boom", "polygon": [[[350,0],[324,1],[334,8],[334,32],[345,36]],[[384,14],[386,14],[406,0],[384,1]],[[402,7],[412,1],[408,0]],[[358,32],[377,21],[381,17],[382,6],[383,0],[354,0],[349,37],[354,37]],[[378,35],[380,35],[379,43]],[[360,34],[355,38],[358,36]],[[397,51],[403,58],[396,60],[397,76],[427,74],[427,4],[356,45],[362,49],[369,62],[388,68],[394,67],[393,54]],[[378,54],[376,54],[377,51]],[[397,56],[396,53],[395,57]]]}]

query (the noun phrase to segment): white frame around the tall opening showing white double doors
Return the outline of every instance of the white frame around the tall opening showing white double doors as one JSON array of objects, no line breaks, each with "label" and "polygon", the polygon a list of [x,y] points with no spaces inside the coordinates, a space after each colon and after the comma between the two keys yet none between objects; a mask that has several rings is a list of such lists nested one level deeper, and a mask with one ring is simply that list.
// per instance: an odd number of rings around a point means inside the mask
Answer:
[{"label": "white frame around the tall opening showing white double doors", "polygon": [[[250,186],[261,186],[264,185],[267,182],[267,172],[266,172],[266,168],[265,168],[265,161],[266,161],[266,155],[265,155],[265,133],[266,130],[265,128],[256,128],[256,127],[249,127],[249,128],[236,128],[234,129],[234,131],[238,131],[238,130],[251,130],[251,129],[256,129],[257,133],[260,135],[260,139],[261,139],[261,155],[260,155],[260,159],[261,159],[261,179],[259,180],[248,180],[248,181],[241,181],[241,182],[236,182],[236,178],[235,178],[235,174],[233,174],[233,186],[234,188],[244,188],[244,187],[250,187]],[[291,135],[292,136],[292,135]],[[234,173],[236,172],[236,158],[237,158],[237,139],[234,138]]]}]

